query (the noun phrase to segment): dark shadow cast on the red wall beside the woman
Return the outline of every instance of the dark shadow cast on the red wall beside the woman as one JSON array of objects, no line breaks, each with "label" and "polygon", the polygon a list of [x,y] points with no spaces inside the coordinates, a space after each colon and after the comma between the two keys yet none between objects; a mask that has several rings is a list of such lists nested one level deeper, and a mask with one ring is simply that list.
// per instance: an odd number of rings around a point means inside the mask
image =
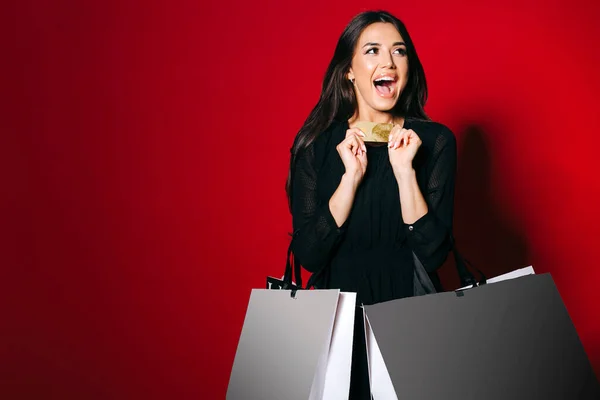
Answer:
[{"label": "dark shadow cast on the red wall beside the woman", "polygon": [[[492,198],[491,161],[483,129],[468,126],[458,143],[454,236],[459,252],[488,278],[526,267],[524,238],[503,221]],[[478,273],[472,271],[479,279]],[[454,259],[439,271],[446,290],[459,287]]]}]

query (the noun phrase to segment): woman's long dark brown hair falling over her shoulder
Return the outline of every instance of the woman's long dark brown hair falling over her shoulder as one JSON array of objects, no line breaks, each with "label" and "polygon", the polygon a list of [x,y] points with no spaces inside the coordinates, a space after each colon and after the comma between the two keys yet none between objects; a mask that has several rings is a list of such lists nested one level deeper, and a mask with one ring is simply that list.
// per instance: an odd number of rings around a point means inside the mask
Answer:
[{"label": "woman's long dark brown hair falling over her shoulder", "polygon": [[427,101],[425,72],[412,39],[402,21],[386,11],[366,11],[358,14],[342,32],[335,47],[333,58],[325,72],[321,97],[306,121],[304,121],[304,125],[300,128],[294,140],[286,182],[290,210],[292,204],[292,172],[298,152],[308,147],[317,135],[326,130],[333,121],[347,121],[356,111],[357,103],[354,88],[346,75],[352,65],[352,57],[358,38],[366,27],[376,22],[393,24],[406,43],[408,82],[391,113],[394,116],[429,120],[424,110]]}]

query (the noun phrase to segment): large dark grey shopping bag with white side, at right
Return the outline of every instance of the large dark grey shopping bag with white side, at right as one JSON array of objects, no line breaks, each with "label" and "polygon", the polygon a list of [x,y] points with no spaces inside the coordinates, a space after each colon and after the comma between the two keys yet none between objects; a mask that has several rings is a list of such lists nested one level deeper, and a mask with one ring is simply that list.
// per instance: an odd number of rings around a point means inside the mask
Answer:
[{"label": "large dark grey shopping bag with white side, at right", "polygon": [[549,274],[364,310],[375,400],[600,399]]}]

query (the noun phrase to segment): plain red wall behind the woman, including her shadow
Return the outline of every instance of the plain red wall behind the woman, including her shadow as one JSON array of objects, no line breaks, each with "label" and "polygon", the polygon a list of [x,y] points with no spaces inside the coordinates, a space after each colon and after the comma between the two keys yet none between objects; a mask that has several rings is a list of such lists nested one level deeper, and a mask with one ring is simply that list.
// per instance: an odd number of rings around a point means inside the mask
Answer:
[{"label": "plain red wall behind the woman, including her shadow", "polygon": [[463,253],[551,272],[600,373],[600,3],[14,3],[0,397],[224,397],[250,290],[283,267],[289,147],[343,27],[379,7],[457,135]]}]

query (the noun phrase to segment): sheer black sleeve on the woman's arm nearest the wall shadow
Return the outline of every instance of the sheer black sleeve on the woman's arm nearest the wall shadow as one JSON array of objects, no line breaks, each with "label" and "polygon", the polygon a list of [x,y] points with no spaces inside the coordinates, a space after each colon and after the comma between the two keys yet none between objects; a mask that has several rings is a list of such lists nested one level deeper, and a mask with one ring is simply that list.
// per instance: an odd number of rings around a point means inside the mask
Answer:
[{"label": "sheer black sleeve on the woman's arm nearest the wall shadow", "polygon": [[448,128],[442,126],[431,156],[426,187],[421,188],[428,212],[404,226],[409,246],[429,272],[441,267],[451,250],[456,139]]}]

